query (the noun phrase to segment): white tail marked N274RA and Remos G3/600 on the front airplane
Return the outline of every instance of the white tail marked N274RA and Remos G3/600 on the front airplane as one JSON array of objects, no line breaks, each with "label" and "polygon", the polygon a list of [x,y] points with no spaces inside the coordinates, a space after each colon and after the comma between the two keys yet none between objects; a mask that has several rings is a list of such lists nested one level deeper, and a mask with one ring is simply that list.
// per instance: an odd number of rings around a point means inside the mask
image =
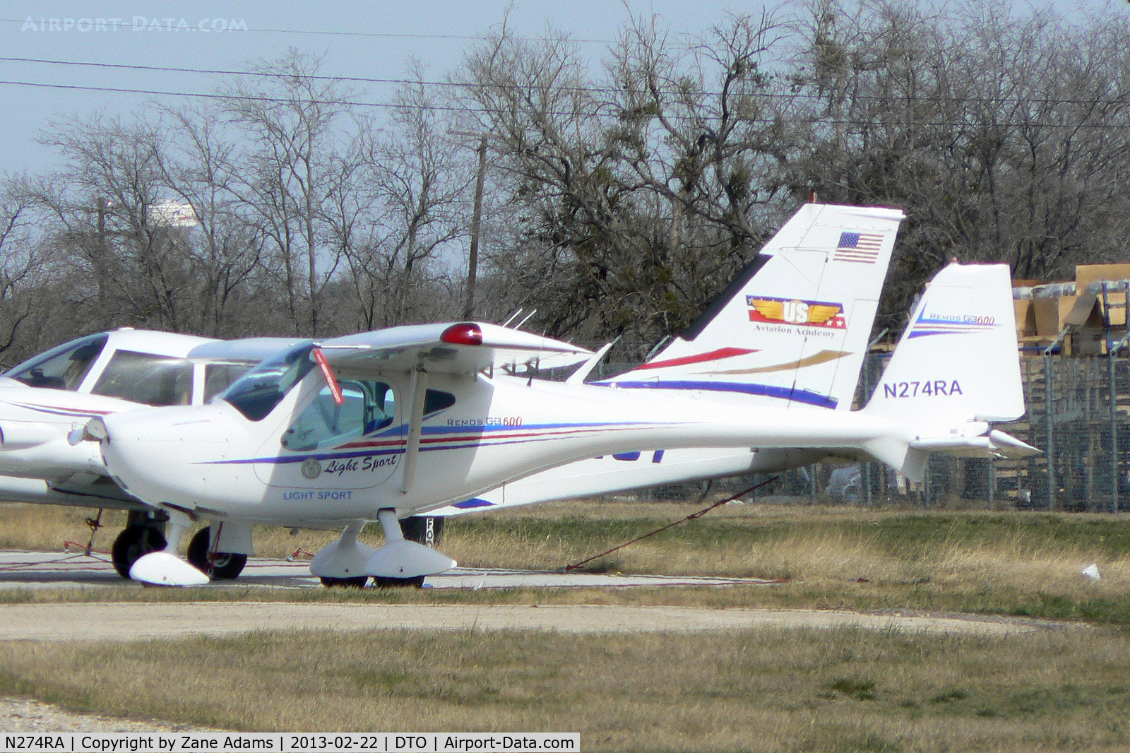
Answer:
[{"label": "white tail marked N274RA and Remos G3/600 on the front airplane", "polygon": [[989,427],[1025,410],[1008,266],[955,262],[935,276],[864,410],[905,427],[869,450],[914,481],[933,451],[1038,452]]}]

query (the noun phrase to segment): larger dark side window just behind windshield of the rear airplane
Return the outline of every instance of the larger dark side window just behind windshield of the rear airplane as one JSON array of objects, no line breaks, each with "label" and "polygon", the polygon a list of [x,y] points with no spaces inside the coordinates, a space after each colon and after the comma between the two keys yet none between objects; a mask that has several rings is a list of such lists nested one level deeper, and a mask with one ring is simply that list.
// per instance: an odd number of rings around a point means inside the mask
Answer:
[{"label": "larger dark side window just behind windshield of the rear airplane", "polygon": [[185,358],[119,350],[90,391],[144,405],[189,405],[192,363]]}]

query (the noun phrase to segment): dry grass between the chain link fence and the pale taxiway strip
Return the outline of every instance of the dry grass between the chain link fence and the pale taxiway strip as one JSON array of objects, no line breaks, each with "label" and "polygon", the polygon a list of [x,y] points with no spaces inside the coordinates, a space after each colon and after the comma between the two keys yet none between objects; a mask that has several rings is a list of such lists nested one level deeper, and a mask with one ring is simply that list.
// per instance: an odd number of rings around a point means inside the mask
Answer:
[{"label": "dry grass between the chain link fence and the pale taxiway strip", "polygon": [[[673,503],[570,502],[531,505],[447,521],[441,548],[472,566],[555,570],[598,554],[699,509]],[[0,507],[0,547],[60,549],[85,543],[88,511]],[[106,549],[121,526],[107,527]],[[367,531],[380,544],[377,528]],[[316,552],[333,534],[257,531],[260,554]],[[1080,575],[1096,563],[1102,580]],[[773,587],[729,589],[570,590],[528,594],[319,591],[251,595],[224,589],[191,598],[325,598],[379,600],[505,600],[916,608],[1031,615],[1130,625],[1130,526],[1116,516],[1038,512],[866,510],[858,508],[727,505],[598,560],[603,571],[780,578]],[[0,592],[0,598],[88,598],[90,594]],[[99,591],[97,598],[107,598]],[[111,598],[180,599],[123,583]]]}]

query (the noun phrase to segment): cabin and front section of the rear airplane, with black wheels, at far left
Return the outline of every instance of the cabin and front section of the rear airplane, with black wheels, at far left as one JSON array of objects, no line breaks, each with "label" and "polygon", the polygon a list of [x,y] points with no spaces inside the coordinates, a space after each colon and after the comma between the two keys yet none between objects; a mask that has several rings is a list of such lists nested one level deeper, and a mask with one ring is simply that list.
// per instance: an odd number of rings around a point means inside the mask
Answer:
[{"label": "cabin and front section of the rear airplane, with black wheels, at far left", "polygon": [[[78,441],[82,426],[120,410],[202,405],[266,355],[298,341],[255,338],[233,348],[203,337],[123,328],[28,358],[0,378],[0,500],[129,511],[113,546],[114,566],[128,577],[138,556],[164,545],[165,516],[111,481],[97,448]],[[206,533],[193,547],[198,562],[207,548]],[[238,572],[245,561],[232,555],[221,564]]]}]

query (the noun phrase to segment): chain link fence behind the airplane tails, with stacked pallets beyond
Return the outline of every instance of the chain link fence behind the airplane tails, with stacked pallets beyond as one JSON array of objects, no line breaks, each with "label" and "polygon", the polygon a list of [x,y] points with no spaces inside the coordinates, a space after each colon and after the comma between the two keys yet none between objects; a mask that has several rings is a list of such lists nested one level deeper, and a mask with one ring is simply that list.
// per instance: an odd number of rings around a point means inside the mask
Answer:
[{"label": "chain link fence behind the airplane tails, with stacked pallets beyond", "polygon": [[[888,354],[871,354],[864,361],[857,407],[870,398],[888,358]],[[598,374],[611,376],[633,365],[605,364]],[[1130,509],[1130,358],[1023,354],[1020,375],[1027,413],[996,427],[1040,448],[1042,456],[990,460],[935,453],[925,482],[916,486],[907,485],[881,462],[819,462],[781,474],[758,492],[758,499],[923,509]],[[737,493],[762,479],[742,476],[676,484],[617,494],[616,499],[694,501]]]}]

